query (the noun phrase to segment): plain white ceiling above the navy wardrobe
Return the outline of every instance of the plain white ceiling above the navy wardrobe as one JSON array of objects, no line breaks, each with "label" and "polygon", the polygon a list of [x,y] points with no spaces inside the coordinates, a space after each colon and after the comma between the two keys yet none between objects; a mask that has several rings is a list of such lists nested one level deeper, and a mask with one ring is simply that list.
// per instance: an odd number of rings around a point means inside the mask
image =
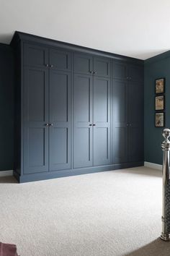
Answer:
[{"label": "plain white ceiling above the navy wardrobe", "polygon": [[0,0],[0,43],[15,30],[138,59],[170,49],[169,0]]}]

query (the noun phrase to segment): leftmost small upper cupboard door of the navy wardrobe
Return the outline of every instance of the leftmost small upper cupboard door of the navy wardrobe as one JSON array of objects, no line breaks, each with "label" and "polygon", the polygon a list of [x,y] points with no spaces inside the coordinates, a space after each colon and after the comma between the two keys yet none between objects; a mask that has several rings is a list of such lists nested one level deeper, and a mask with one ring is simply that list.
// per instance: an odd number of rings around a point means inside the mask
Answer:
[{"label": "leftmost small upper cupboard door of the navy wardrobe", "polygon": [[48,48],[31,43],[24,44],[24,65],[32,67],[47,67]]}]

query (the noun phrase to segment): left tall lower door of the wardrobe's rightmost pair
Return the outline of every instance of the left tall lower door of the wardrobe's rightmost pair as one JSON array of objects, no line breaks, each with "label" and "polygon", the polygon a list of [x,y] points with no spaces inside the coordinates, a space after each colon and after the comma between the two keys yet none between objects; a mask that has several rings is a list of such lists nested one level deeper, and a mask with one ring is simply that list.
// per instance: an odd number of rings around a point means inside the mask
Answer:
[{"label": "left tall lower door of the wardrobe's rightmost pair", "polygon": [[125,80],[113,80],[112,118],[112,161],[124,163],[128,161],[128,84]]}]

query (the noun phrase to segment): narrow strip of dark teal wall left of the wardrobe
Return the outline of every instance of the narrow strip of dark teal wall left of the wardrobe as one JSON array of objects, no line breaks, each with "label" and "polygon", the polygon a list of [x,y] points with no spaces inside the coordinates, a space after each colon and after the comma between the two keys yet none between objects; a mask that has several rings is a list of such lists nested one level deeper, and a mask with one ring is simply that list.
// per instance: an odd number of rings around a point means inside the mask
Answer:
[{"label": "narrow strip of dark teal wall left of the wardrobe", "polygon": [[0,43],[0,171],[12,170],[14,153],[14,59]]}]

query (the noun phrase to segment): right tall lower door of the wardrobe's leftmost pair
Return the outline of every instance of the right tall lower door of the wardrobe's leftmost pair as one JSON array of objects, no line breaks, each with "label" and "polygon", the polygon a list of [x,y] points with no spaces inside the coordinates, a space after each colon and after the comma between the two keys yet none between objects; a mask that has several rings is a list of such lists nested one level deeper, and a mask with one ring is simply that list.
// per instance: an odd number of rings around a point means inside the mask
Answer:
[{"label": "right tall lower door of the wardrobe's leftmost pair", "polygon": [[50,171],[71,168],[71,74],[50,70]]}]

